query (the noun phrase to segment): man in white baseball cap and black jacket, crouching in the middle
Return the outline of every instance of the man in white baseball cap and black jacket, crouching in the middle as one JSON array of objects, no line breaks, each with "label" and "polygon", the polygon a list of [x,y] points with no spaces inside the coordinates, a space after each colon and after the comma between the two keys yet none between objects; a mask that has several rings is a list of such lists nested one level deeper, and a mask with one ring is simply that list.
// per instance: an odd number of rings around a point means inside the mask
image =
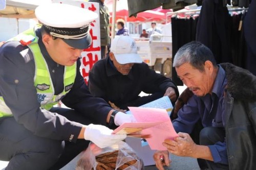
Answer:
[{"label": "man in white baseball cap and black jacket, crouching in the middle", "polygon": [[[89,74],[92,95],[103,98],[113,108],[127,110],[141,106],[163,95],[175,102],[179,91],[172,80],[150,69],[137,54],[137,45],[130,36],[116,36],[109,57],[95,63]],[[143,91],[148,96],[140,97]]]}]

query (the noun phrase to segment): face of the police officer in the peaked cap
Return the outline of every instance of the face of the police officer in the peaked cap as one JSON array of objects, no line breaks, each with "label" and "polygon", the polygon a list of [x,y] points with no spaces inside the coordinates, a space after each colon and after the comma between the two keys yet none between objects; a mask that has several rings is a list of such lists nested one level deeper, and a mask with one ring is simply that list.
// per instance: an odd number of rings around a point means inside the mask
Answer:
[{"label": "face of the police officer in the peaked cap", "polygon": [[73,48],[61,38],[53,39],[51,35],[42,35],[42,42],[46,50],[56,63],[65,66],[72,66],[80,57],[82,50]]}]

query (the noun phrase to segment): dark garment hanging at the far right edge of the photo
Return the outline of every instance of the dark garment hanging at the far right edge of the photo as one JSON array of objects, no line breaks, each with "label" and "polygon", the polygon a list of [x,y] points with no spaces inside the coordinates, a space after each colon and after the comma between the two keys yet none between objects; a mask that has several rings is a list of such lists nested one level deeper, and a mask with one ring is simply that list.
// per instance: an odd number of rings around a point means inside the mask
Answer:
[{"label": "dark garment hanging at the far right edge of the photo", "polygon": [[256,1],[252,1],[244,19],[244,35],[247,43],[247,69],[256,75]]}]

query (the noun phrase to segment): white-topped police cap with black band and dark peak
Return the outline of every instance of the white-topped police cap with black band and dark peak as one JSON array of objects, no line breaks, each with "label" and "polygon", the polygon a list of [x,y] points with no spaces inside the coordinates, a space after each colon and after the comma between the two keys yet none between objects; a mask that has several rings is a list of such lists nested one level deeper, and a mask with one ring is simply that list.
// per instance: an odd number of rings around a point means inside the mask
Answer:
[{"label": "white-topped police cap with black band and dark peak", "polygon": [[74,48],[88,48],[92,43],[90,23],[98,14],[80,7],[52,3],[35,9],[37,19],[50,35],[62,38]]}]

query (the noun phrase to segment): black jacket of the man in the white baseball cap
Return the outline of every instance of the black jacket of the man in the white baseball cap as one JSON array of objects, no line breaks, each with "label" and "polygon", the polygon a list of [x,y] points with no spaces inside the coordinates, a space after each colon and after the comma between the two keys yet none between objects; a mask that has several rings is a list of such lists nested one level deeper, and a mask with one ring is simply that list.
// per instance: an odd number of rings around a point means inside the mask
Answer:
[{"label": "black jacket of the man in the white baseball cap", "polygon": [[[120,109],[141,106],[161,98],[168,87],[177,86],[168,78],[157,74],[146,63],[134,64],[129,75],[122,75],[109,57],[94,64],[89,74],[89,90],[93,96],[114,103]],[[141,91],[152,94],[140,97]]]}]

